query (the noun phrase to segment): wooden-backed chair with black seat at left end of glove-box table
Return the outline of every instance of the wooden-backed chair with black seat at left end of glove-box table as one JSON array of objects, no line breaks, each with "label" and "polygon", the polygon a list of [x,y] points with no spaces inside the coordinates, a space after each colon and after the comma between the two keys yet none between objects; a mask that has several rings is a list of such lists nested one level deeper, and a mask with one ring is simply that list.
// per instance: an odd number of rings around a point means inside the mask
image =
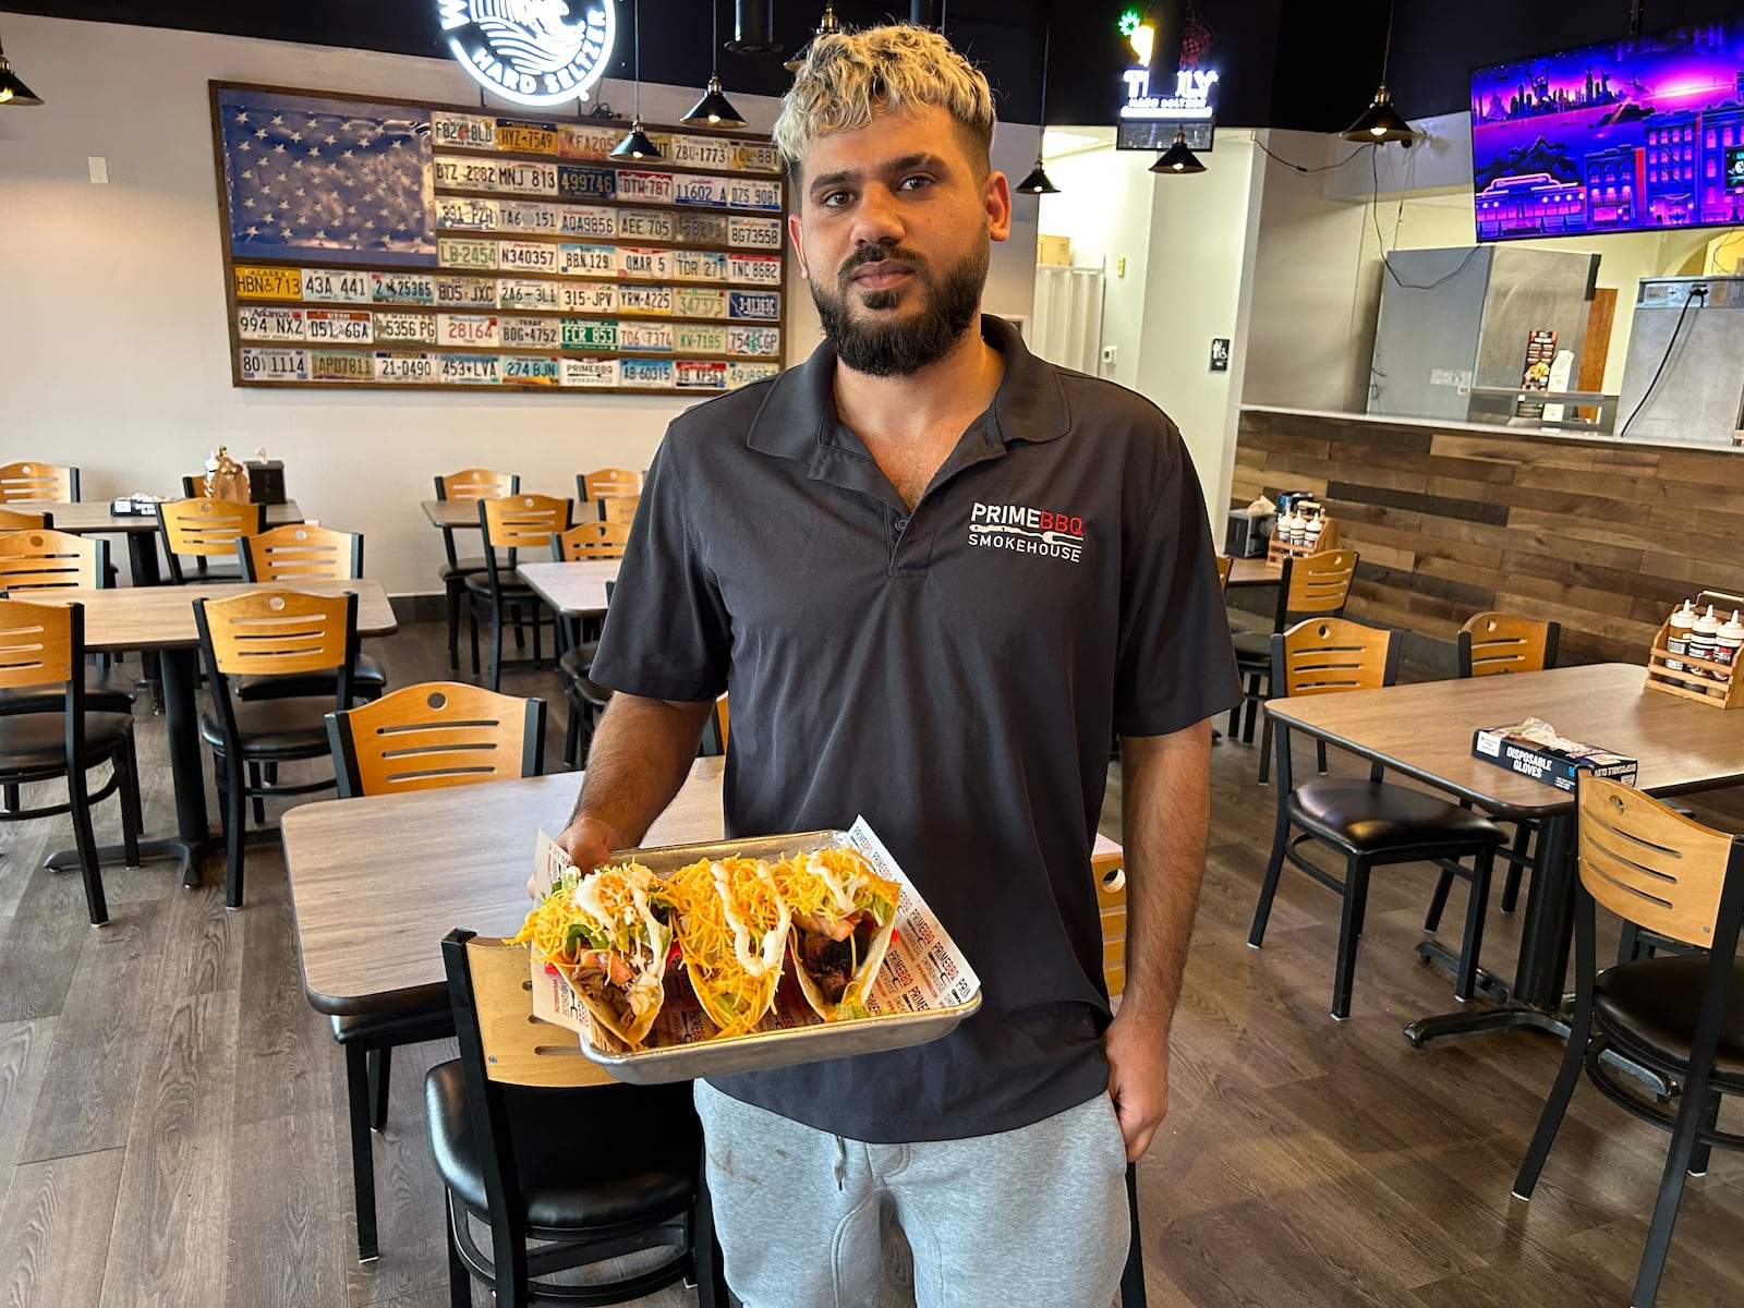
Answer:
[{"label": "wooden-backed chair with black seat at left end of glove-box table", "polygon": [[[1317,617],[1271,637],[1271,685],[1284,698],[1367,691],[1392,685],[1397,675],[1399,640],[1393,631],[1341,617]],[[1271,719],[1266,726],[1273,726]],[[1381,764],[1369,769],[1367,781],[1327,778],[1298,787],[1291,780],[1291,741],[1284,722],[1277,724],[1277,743],[1278,816],[1271,862],[1266,865],[1247,944],[1259,949],[1264,940],[1284,863],[1338,891],[1345,905],[1332,973],[1332,1017],[1343,1022],[1350,1017],[1369,872],[1393,863],[1428,862],[1451,869],[1472,884],[1454,985],[1454,996],[1470,999],[1481,980],[1477,954],[1489,900],[1489,869],[1495,849],[1503,841],[1502,828],[1421,790],[1386,785]],[[1292,837],[1292,830],[1299,834]],[[1317,841],[1341,855],[1345,877],[1338,879],[1299,855],[1298,848],[1306,841]],[[1458,862],[1461,858],[1472,858],[1472,867],[1463,867]]]}]

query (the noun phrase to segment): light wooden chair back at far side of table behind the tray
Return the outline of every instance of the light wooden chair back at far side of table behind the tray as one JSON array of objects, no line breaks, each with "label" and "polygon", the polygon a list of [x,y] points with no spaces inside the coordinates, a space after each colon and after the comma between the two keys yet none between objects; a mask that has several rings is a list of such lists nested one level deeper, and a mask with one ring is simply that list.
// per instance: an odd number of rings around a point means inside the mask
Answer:
[{"label": "light wooden chair back at far side of table behind the tray", "polygon": [[406,685],[328,713],[340,799],[539,776],[544,699],[460,682]]}]

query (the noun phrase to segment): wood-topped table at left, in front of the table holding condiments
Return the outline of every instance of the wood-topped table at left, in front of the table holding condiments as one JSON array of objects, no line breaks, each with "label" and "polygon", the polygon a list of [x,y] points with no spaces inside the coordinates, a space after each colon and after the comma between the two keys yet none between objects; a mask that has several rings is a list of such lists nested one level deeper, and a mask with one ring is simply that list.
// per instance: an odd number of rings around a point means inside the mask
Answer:
[{"label": "wood-topped table at left, in front of the table holding condiments", "polygon": [[[265,589],[256,582],[213,582],[206,586],[122,586],[119,589],[66,589],[44,595],[42,602],[78,602],[85,609],[85,649],[157,654],[164,680],[164,727],[169,738],[169,773],[176,788],[176,834],[143,841],[150,858],[178,858],[183,881],[197,886],[201,858],[218,846],[206,813],[206,764],[195,694],[201,633],[194,623],[195,600],[228,600]],[[394,609],[378,581],[300,581],[293,589],[314,595],[358,595],[358,635],[389,635],[398,628]],[[99,849],[103,862],[120,856],[120,846]],[[78,853],[65,849],[49,856],[49,867],[77,867]]]}]

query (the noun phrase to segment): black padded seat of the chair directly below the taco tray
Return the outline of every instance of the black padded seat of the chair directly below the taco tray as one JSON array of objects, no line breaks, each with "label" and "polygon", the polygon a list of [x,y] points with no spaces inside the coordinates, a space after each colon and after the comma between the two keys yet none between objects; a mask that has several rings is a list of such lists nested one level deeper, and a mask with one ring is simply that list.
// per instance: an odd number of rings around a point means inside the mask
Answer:
[{"label": "black padded seat of the chair directly below the taco tray", "polygon": [[[703,1148],[689,1081],[581,1090],[504,1085],[502,1093],[528,1224],[610,1226],[689,1209]],[[459,1059],[431,1069],[424,1107],[443,1182],[473,1212],[488,1212]]]}]

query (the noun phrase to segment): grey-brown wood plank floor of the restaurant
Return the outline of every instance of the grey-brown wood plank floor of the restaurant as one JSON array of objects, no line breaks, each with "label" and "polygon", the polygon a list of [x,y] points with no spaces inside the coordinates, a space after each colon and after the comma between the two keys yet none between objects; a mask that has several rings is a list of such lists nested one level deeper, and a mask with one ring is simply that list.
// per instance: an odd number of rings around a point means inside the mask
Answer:
[{"label": "grey-brown wood plank floor of the restaurant", "polygon": [[[434,626],[378,647],[396,685],[445,670]],[[553,673],[509,673],[504,689],[548,696],[562,741]],[[141,710],[138,727],[160,832],[162,719]],[[1411,950],[1428,872],[1376,879],[1350,1022],[1327,1017],[1331,893],[1287,875],[1266,947],[1247,949],[1273,804],[1254,766],[1250,748],[1214,752],[1172,1113],[1139,1168],[1151,1305],[1625,1305],[1664,1135],[1584,1087],[1538,1196],[1509,1198],[1561,1045],[1406,1045],[1406,1020],[1453,1006],[1451,982]],[[1104,813],[1118,839],[1118,771]],[[1735,830],[1744,802],[1702,816]],[[113,802],[99,820],[117,839]],[[249,851],[234,914],[218,865],[199,891],[169,865],[112,870],[112,923],[92,930],[77,877],[42,870],[70,842],[65,820],[0,827],[0,1303],[445,1305],[422,1080],[452,1046],[396,1052],[377,1141],[384,1252],[359,1268],[342,1059],[302,996],[277,849]],[[1510,971],[1516,940],[1493,909],[1486,963]],[[1739,1303],[1741,1243],[1744,1167],[1716,1153],[1685,1195],[1660,1303]]]}]

